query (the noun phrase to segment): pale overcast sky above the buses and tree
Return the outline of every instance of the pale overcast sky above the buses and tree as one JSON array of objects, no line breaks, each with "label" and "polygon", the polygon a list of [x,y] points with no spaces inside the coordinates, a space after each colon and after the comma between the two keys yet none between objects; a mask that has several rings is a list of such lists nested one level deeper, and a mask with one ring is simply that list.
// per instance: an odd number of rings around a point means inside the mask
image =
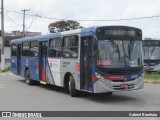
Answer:
[{"label": "pale overcast sky above the buses and tree", "polygon": [[[23,15],[28,14],[60,19],[112,20],[160,15],[160,0],[4,0],[5,31],[22,31]],[[31,25],[33,21],[33,24]],[[26,15],[28,31],[48,33],[48,25],[55,20],[36,18]],[[80,22],[82,26],[127,25],[143,30],[143,38],[160,39],[160,17],[116,22]]]}]

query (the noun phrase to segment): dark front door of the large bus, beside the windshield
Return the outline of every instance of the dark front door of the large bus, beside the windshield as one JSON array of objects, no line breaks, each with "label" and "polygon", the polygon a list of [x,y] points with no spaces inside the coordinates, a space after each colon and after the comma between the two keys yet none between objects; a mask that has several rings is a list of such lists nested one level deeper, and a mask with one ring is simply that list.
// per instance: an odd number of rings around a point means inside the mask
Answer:
[{"label": "dark front door of the large bus, beside the windshield", "polygon": [[81,89],[92,87],[92,37],[81,38]]}]

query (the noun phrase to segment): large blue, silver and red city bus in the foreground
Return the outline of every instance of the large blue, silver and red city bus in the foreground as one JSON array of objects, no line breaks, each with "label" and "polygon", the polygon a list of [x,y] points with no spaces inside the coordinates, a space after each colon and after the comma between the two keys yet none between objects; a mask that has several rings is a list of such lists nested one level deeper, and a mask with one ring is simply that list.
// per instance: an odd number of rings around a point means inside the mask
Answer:
[{"label": "large blue, silver and red city bus in the foreground", "polygon": [[11,41],[11,71],[35,82],[77,91],[142,89],[142,30],[99,26]]}]

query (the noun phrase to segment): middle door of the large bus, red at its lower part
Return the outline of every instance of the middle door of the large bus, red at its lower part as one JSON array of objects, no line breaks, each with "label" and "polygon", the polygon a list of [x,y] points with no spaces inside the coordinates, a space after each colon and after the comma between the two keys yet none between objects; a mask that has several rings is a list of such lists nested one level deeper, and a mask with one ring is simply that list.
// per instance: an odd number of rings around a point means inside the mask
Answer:
[{"label": "middle door of the large bus, red at its lower part", "polygon": [[39,79],[46,81],[48,42],[40,42],[39,46]]}]

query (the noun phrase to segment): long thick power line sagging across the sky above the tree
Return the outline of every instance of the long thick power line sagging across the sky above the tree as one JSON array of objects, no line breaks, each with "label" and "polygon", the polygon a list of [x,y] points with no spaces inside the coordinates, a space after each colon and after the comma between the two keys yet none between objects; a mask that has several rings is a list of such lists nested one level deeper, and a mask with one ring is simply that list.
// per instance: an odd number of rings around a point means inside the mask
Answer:
[{"label": "long thick power line sagging across the sky above the tree", "polygon": [[[8,9],[5,9],[7,11],[10,11],[10,12],[14,12],[14,13],[18,13],[18,14],[23,14],[21,12],[18,12],[18,11],[14,11],[14,10],[8,10]],[[26,14],[28,16],[33,16],[35,17],[36,15],[34,14]],[[87,20],[87,19],[65,19],[65,18],[55,18],[55,17],[44,17],[44,16],[37,16],[39,18],[44,18],[44,19],[52,19],[52,20],[74,20],[74,21],[82,21],[82,22],[112,22],[112,21],[129,21],[129,20],[141,20],[141,19],[151,19],[151,18],[158,18],[160,17],[160,15],[154,15],[154,16],[144,16],[144,17],[134,17],[134,18],[122,18],[122,19],[104,19],[104,20]]]}]

